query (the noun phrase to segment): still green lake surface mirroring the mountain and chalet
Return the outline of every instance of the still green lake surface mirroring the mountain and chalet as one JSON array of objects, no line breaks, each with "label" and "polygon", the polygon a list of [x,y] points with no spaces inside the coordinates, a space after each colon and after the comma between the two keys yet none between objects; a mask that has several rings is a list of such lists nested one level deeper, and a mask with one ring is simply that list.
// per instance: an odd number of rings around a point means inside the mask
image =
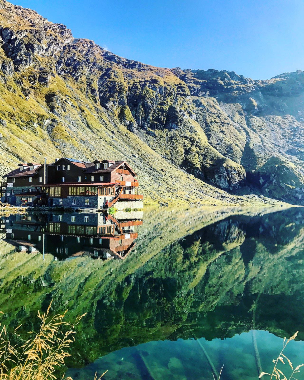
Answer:
[{"label": "still green lake surface mirroring the mountain and chalet", "polygon": [[207,380],[221,366],[221,380],[256,379],[296,331],[285,354],[304,361],[303,208],[22,214],[0,228],[2,323],[26,336],[52,299],[71,320],[87,312],[74,380]]}]

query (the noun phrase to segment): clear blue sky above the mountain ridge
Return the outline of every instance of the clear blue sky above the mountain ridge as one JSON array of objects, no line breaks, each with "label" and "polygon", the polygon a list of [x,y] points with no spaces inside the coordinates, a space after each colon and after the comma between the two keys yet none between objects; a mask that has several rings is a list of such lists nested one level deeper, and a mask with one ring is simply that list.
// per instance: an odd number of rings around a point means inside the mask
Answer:
[{"label": "clear blue sky above the mountain ridge", "polygon": [[11,0],[122,57],[253,79],[304,70],[303,0]]}]

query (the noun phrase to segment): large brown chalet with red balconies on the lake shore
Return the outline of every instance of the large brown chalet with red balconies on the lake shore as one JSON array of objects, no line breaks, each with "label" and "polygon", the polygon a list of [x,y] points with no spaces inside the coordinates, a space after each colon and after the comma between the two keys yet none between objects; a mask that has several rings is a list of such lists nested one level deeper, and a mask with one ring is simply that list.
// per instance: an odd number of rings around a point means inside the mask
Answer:
[{"label": "large brown chalet with red balconies on the lake shore", "polygon": [[51,164],[20,163],[4,177],[6,193],[1,201],[16,206],[142,208],[136,174],[125,161],[62,157]]}]

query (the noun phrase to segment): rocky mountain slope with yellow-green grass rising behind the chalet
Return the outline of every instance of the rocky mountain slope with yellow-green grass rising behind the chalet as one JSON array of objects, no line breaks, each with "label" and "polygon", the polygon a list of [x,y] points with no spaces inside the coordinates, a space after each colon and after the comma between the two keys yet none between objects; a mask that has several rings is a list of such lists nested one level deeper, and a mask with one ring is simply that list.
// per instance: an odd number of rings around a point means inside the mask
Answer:
[{"label": "rocky mountain slope with yellow-green grass rising behind the chalet", "polygon": [[304,203],[302,71],[152,67],[0,8],[0,175],[44,156],[108,157],[130,161],[147,203]]}]

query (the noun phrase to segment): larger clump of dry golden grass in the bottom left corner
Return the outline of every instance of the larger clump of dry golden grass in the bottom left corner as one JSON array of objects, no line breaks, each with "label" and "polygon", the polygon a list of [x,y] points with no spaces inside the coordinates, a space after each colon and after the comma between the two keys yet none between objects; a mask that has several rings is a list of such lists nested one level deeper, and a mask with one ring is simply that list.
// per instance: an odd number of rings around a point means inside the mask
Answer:
[{"label": "larger clump of dry golden grass in the bottom left corner", "polygon": [[[67,310],[63,314],[50,317],[51,304],[46,313],[41,314],[38,311],[38,318],[41,321],[39,332],[29,332],[33,338],[28,339],[21,346],[11,344],[14,336],[18,336],[20,326],[14,330],[11,336],[6,327],[2,327],[0,331],[0,380],[56,379],[55,370],[62,367],[65,358],[70,356],[68,348],[74,342],[76,333],[74,328],[85,314],[79,315],[74,323],[70,323],[64,320]],[[104,374],[99,378],[95,374],[94,380],[100,380]],[[68,377],[66,380],[73,379]]]}]

